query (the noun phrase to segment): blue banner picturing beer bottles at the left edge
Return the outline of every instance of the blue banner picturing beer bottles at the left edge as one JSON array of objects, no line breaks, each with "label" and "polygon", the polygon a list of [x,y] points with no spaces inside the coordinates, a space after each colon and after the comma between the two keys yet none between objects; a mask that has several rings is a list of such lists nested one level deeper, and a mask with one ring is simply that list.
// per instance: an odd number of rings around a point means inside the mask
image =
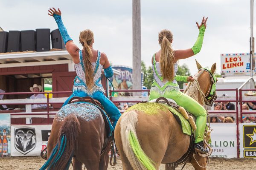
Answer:
[{"label": "blue banner picturing beer bottles at the left edge", "polygon": [[11,115],[0,114],[0,156],[11,154]]}]

